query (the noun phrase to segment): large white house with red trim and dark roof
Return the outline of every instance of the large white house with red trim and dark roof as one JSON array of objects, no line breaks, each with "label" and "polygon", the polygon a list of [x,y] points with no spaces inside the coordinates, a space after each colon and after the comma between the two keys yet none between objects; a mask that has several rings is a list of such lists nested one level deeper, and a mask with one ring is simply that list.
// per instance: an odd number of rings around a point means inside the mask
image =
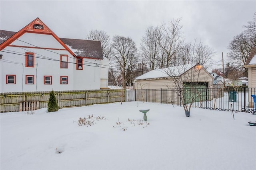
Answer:
[{"label": "large white house with red trim and dark roof", "polygon": [[39,18],[0,30],[0,92],[100,89],[106,72],[100,41],[59,38]]}]

